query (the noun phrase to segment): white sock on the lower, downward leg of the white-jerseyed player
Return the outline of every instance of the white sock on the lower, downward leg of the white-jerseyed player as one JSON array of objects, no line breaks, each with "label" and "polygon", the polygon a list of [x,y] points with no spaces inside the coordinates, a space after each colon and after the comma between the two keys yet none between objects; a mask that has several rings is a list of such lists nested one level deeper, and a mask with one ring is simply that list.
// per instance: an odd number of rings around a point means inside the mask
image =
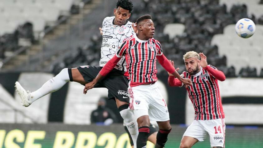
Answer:
[{"label": "white sock on the lower, downward leg of the white-jerseyed player", "polygon": [[135,121],[134,114],[128,109],[124,109],[119,113],[122,116],[129,133],[131,134],[134,143],[134,148],[136,148],[136,141],[139,134],[139,130],[138,130],[137,121]]}]

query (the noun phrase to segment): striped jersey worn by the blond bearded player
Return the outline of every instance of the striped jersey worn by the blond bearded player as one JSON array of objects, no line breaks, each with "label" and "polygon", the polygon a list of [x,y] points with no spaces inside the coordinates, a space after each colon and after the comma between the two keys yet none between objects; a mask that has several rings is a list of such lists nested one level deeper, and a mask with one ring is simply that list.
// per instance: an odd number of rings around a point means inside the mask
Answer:
[{"label": "striped jersey worn by the blond bearded player", "polygon": [[188,72],[183,72],[182,77],[189,78],[193,82],[193,85],[186,89],[194,106],[195,120],[225,118],[217,79],[210,72],[201,67],[201,71],[197,74],[190,75]]}]

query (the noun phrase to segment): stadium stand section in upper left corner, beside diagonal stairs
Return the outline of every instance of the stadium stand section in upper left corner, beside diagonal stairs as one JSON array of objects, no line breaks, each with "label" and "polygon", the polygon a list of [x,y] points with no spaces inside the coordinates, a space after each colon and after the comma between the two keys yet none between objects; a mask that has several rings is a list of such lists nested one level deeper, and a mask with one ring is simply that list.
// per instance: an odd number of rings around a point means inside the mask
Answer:
[{"label": "stadium stand section in upper left corner, beside diagonal stairs", "polygon": [[[0,58],[2,60],[0,59],[0,67],[12,69],[18,63],[28,59],[30,55],[41,51],[43,37],[47,35],[49,38],[49,34],[55,33],[54,29],[65,32],[68,25],[65,27],[61,24],[65,24],[70,18],[71,12],[74,15],[79,15],[80,8],[90,2],[91,0],[66,0],[66,2],[65,0],[1,0]],[[29,24],[30,27],[28,27]],[[9,41],[10,37],[13,37],[14,40]],[[11,45],[9,42],[15,42],[15,44]],[[34,44],[36,46],[32,46]],[[40,48],[34,50],[36,47]],[[31,48],[34,49],[31,50]]]}]

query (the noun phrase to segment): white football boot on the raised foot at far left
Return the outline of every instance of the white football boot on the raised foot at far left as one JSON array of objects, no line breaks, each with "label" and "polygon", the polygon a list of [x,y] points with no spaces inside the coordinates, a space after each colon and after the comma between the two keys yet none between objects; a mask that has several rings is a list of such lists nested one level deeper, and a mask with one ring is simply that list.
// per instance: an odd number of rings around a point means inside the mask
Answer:
[{"label": "white football boot on the raised foot at far left", "polygon": [[26,91],[19,82],[16,81],[15,83],[15,87],[16,87],[16,91],[18,92],[20,98],[21,98],[21,103],[23,104],[23,106],[27,107],[30,106],[30,104],[32,103],[31,101],[29,101],[30,98],[30,91]]}]

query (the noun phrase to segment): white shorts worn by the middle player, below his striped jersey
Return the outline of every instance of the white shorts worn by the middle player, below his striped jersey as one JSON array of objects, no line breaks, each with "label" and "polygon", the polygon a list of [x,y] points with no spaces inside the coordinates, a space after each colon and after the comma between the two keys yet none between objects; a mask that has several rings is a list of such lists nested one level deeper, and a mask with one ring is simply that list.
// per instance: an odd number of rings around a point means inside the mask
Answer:
[{"label": "white shorts worn by the middle player, below his striped jersey", "polygon": [[136,120],[144,115],[149,115],[150,121],[170,120],[168,107],[156,83],[129,86],[128,92],[130,94],[129,109],[134,110]]}]

